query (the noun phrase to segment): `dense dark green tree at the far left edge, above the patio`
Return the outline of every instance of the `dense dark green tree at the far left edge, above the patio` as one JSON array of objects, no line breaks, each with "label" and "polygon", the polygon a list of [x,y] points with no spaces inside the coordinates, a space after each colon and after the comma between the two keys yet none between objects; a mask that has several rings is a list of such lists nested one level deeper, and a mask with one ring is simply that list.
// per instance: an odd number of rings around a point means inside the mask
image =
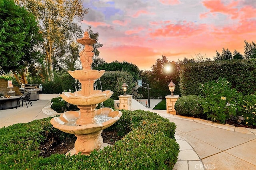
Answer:
[{"label": "dense dark green tree at the far left edge, above the patio", "polygon": [[39,28],[33,14],[14,0],[0,0],[0,7],[0,70],[11,70],[19,84],[27,84],[27,66],[38,57],[33,48],[40,41]]}]

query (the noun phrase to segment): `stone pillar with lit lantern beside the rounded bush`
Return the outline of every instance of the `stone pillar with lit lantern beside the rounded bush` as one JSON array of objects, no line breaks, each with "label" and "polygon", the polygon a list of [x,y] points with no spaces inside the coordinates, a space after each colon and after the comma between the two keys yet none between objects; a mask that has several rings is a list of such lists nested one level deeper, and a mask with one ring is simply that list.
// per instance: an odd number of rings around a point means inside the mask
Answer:
[{"label": "stone pillar with lit lantern beside the rounded bush", "polygon": [[174,115],[176,115],[176,110],[174,109],[174,105],[175,105],[177,99],[179,98],[179,95],[173,95],[175,86],[176,85],[171,80],[170,84],[168,84],[171,95],[165,96],[165,98],[166,98],[166,112],[170,113],[170,114],[174,114]]}]

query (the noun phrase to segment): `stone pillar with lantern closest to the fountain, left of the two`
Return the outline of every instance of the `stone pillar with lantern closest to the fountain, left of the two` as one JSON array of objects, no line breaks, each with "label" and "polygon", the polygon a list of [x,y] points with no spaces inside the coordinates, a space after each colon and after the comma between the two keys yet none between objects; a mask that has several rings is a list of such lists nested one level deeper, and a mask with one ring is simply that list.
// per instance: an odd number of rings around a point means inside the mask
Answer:
[{"label": "stone pillar with lantern closest to the fountain, left of the two", "polygon": [[128,86],[126,83],[122,85],[122,89],[124,91],[124,95],[120,95],[118,109],[131,110],[132,109],[132,95],[126,94]]}]

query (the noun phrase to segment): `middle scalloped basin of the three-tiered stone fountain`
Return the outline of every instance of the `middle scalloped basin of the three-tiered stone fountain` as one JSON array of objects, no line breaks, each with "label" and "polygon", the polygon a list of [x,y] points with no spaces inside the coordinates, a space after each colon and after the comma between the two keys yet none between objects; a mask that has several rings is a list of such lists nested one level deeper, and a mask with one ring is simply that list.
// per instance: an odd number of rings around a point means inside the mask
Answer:
[{"label": "middle scalloped basin of the three-tiered stone fountain", "polygon": [[74,93],[64,92],[60,94],[60,97],[73,105],[88,106],[104,102],[108,100],[112,94],[113,92],[111,90],[105,90],[103,92],[101,90],[92,90],[92,94],[89,96],[82,95],[82,91],[76,91]]}]

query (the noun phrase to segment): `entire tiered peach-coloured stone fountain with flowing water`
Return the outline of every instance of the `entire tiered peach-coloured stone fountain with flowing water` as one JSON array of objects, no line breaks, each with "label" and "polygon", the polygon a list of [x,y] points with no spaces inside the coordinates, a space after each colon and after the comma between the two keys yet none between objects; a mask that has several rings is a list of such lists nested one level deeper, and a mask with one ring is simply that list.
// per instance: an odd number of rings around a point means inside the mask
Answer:
[{"label": "entire tiered peach-coloured stone fountain with flowing water", "polygon": [[68,71],[75,79],[82,84],[81,90],[74,93],[64,92],[60,97],[70,104],[77,105],[79,111],[66,111],[60,117],[51,119],[53,127],[66,132],[75,134],[76,154],[90,154],[94,149],[102,148],[103,139],[101,133],[113,125],[122,113],[111,108],[100,108],[96,110],[99,103],[108,100],[113,94],[112,91],[94,90],[94,82],[100,78],[105,70],[92,70],[92,57],[94,56],[92,45],[96,43],[89,37],[88,32],[84,32],[84,37],[77,39],[77,42],[84,45],[80,55],[82,70]]}]

